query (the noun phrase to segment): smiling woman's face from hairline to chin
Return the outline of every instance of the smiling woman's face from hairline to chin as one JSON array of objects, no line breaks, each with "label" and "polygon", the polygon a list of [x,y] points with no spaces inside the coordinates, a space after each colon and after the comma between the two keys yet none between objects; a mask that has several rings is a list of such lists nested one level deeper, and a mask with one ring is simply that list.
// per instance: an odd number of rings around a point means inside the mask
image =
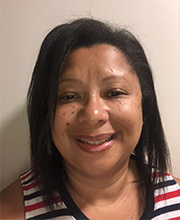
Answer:
[{"label": "smiling woman's face from hairline to chin", "polygon": [[127,165],[141,135],[141,100],[138,78],[115,47],[71,52],[52,125],[66,169],[100,176]]}]

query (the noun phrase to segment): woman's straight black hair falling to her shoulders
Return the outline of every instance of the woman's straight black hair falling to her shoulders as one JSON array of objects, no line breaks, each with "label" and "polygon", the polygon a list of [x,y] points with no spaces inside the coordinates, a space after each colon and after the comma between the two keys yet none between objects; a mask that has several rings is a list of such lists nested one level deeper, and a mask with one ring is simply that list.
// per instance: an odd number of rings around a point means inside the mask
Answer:
[{"label": "woman's straight black hair falling to her shoulders", "polygon": [[[41,179],[44,198],[50,206],[68,177],[62,156],[51,137],[51,123],[58,100],[58,84],[63,63],[72,50],[95,44],[115,46],[137,75],[142,92],[143,128],[134,150],[141,183],[148,200],[156,172],[162,177],[168,167],[168,149],[157,105],[152,72],[142,46],[127,30],[93,20],[78,19],[54,28],[44,39],[28,92],[31,162],[36,179]],[[147,163],[147,166],[145,163]],[[155,174],[152,178],[152,169]]]}]

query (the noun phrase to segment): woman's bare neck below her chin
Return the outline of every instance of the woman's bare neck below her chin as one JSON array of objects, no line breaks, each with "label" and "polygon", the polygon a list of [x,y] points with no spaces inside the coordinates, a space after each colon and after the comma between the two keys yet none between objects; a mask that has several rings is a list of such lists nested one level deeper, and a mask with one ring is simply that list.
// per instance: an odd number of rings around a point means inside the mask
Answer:
[{"label": "woman's bare neck below her chin", "polygon": [[67,186],[76,203],[88,203],[94,206],[107,206],[126,196],[129,187],[138,177],[134,161],[128,161],[117,172],[104,176],[89,177],[67,168],[69,184]]}]

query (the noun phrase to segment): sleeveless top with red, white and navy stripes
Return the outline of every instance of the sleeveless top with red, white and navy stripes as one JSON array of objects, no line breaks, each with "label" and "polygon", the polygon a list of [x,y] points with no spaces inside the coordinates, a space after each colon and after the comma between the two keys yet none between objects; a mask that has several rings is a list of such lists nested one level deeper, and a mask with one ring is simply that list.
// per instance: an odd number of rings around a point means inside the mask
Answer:
[{"label": "sleeveless top with red, white and navy stripes", "polygon": [[[157,175],[153,199],[140,220],[180,220],[180,187],[168,173],[163,186],[160,178]],[[20,179],[26,220],[88,220],[74,203],[65,185],[56,195],[54,210],[50,211],[43,202],[42,191],[35,183],[32,171],[22,174]]]}]

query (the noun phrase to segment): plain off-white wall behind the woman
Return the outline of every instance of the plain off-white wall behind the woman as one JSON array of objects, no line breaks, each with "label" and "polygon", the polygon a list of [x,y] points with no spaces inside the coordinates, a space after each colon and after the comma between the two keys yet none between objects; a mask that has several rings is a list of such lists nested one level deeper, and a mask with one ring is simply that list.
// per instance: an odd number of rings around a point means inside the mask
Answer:
[{"label": "plain off-white wall behind the woman", "polygon": [[153,70],[173,175],[180,177],[180,1],[0,0],[0,190],[30,167],[26,94],[40,44],[56,25],[93,17],[141,41]]}]

